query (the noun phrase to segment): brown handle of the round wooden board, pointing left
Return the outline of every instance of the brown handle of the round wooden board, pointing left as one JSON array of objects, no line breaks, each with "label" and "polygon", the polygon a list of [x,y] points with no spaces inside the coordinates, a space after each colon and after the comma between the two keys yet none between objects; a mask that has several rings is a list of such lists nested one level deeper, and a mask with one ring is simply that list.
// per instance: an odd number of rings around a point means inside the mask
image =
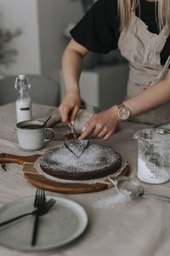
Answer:
[{"label": "brown handle of the round wooden board, pointing left", "polygon": [[0,154],[0,163],[16,163],[23,165],[25,162],[34,163],[40,154],[33,154],[28,156],[21,156],[15,154],[1,153]]}]

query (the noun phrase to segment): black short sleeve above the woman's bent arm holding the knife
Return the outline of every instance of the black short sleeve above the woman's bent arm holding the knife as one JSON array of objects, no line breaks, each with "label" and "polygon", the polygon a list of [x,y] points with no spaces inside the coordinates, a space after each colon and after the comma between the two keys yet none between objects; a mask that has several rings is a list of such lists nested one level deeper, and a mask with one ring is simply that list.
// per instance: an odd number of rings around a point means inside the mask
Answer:
[{"label": "black short sleeve above the woman's bent arm holding the knife", "polygon": [[98,0],[72,30],[71,37],[88,50],[106,54],[117,48],[117,1]]}]

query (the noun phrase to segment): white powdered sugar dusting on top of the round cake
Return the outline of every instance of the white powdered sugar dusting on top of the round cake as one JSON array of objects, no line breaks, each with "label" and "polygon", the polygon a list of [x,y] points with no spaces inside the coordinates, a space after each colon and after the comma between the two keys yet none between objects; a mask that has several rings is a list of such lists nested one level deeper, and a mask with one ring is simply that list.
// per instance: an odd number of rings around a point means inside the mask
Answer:
[{"label": "white powdered sugar dusting on top of the round cake", "polygon": [[79,158],[68,148],[61,146],[48,150],[39,158],[39,161],[41,166],[54,172],[55,170],[91,172],[107,169],[117,162],[121,163],[121,156],[113,148],[92,144]]}]

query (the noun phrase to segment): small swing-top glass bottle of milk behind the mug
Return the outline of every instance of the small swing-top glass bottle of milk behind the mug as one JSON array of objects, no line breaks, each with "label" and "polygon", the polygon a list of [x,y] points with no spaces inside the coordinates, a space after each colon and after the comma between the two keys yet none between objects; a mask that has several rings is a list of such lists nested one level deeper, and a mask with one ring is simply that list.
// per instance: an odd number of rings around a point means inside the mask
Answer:
[{"label": "small swing-top glass bottle of milk behind the mug", "polygon": [[31,84],[25,75],[19,75],[14,84],[14,88],[19,91],[16,101],[16,117],[17,123],[31,120],[31,98],[28,94]]}]

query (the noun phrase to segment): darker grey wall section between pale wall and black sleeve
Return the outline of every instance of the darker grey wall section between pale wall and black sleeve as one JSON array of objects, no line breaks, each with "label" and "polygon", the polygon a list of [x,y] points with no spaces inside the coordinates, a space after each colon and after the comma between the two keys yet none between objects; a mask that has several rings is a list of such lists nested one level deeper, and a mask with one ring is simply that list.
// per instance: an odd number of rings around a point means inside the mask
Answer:
[{"label": "darker grey wall section between pale wall and black sleeve", "polygon": [[65,27],[82,18],[81,1],[38,0],[41,38],[42,73],[59,79],[61,57],[69,40],[63,36]]}]

